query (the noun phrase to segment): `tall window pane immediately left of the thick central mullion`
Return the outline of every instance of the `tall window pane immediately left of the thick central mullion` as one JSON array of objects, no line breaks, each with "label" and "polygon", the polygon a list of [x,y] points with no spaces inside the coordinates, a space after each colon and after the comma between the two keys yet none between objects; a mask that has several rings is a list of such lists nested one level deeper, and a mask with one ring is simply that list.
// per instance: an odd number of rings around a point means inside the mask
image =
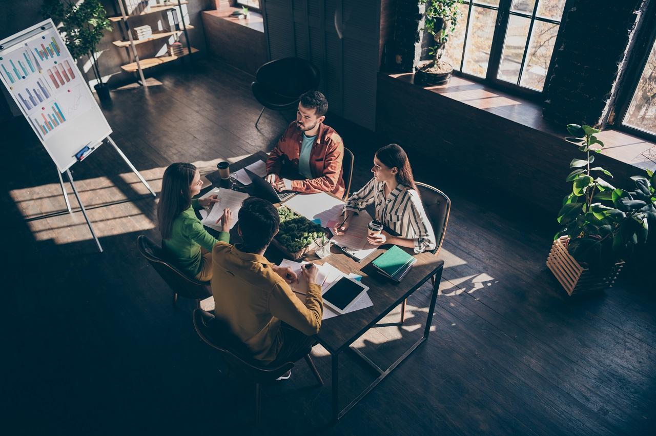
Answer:
[{"label": "tall window pane immediately left of the thick central mullion", "polygon": [[464,49],[463,72],[485,77],[489,64],[490,48],[494,35],[497,11],[482,7],[472,7],[469,18],[469,34]]}]

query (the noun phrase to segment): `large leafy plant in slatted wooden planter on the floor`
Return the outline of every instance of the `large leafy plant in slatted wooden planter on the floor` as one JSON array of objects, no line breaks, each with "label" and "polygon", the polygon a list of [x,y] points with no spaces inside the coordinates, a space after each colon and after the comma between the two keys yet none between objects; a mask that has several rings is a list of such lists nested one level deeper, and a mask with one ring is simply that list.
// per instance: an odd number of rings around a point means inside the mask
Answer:
[{"label": "large leafy plant in slatted wooden planter on the floor", "polygon": [[599,133],[588,125],[567,125],[584,159],[569,163],[566,181],[572,190],[563,200],[558,223],[564,227],[554,237],[546,265],[569,295],[602,290],[613,280],[636,246],[647,242],[649,226],[656,228],[656,175],[631,177],[636,189],[615,188],[604,177],[609,171],[592,166],[594,154],[604,148]]}]

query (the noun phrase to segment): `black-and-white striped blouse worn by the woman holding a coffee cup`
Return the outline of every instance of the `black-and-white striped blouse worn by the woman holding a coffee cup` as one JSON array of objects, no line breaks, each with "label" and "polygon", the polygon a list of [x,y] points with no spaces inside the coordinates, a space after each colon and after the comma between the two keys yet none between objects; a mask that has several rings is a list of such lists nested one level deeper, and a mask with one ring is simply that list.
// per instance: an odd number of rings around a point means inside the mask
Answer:
[{"label": "black-and-white striped blouse worn by the woman holding a coffee cup", "polygon": [[371,179],[346,200],[344,210],[358,213],[373,203],[376,206],[375,218],[401,238],[413,239],[415,253],[433,250],[436,246],[435,233],[417,191],[398,184],[385,198],[384,188],[384,182]]}]

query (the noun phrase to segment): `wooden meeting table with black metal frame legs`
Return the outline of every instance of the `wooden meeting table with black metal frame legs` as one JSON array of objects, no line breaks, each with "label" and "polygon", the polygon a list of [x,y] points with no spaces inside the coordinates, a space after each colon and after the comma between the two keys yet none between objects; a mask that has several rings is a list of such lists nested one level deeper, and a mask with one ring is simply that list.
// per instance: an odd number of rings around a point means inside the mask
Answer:
[{"label": "wooden meeting table with black metal frame legs", "polygon": [[[234,173],[238,169],[251,165],[258,160],[266,161],[267,154],[264,152],[257,152],[247,158],[239,160],[239,162],[230,164],[230,172]],[[213,187],[219,186],[224,188],[230,188],[234,186],[234,183],[230,181],[222,180],[218,171],[208,174],[207,179],[212,182]],[[241,192],[247,192],[251,194],[251,187],[253,185],[247,185],[241,187],[239,190]],[[207,189],[203,190],[207,192]],[[235,217],[236,218],[236,217]],[[216,234],[215,230],[207,228],[213,234]],[[239,241],[239,235],[236,232],[237,227],[235,226],[230,231],[230,239],[233,242]],[[331,363],[333,367],[332,381],[332,408],[333,408],[333,422],[337,422],[348,410],[353,406],[358,404],[358,402],[365,396],[371,389],[373,389],[380,381],[382,381],[386,376],[388,376],[396,366],[398,366],[405,358],[407,358],[410,353],[412,353],[421,343],[428,339],[428,334],[430,334],[430,326],[433,318],[433,313],[435,310],[435,303],[438,297],[438,288],[440,286],[440,279],[442,274],[442,269],[444,262],[438,259],[438,257],[432,253],[420,253],[415,254],[409,248],[403,248],[408,253],[412,254],[416,259],[415,265],[407,273],[405,278],[401,280],[400,284],[396,284],[387,278],[384,278],[381,274],[375,271],[375,268],[371,264],[373,259],[379,257],[380,254],[384,253],[389,246],[381,246],[375,250],[371,255],[367,256],[366,259],[361,261],[355,261],[352,257],[346,255],[342,250],[339,250],[337,247],[331,247],[331,255],[325,257],[324,259],[318,259],[313,261],[318,265],[328,262],[340,271],[349,274],[353,272],[355,274],[362,276],[362,283],[369,286],[369,297],[373,301],[373,306],[347,313],[344,315],[334,316],[323,320],[321,322],[321,329],[316,335],[317,341],[330,353]],[[277,250],[274,246],[270,246],[267,252],[265,253],[267,259],[273,261],[274,263],[279,263],[283,259],[283,253]],[[430,305],[428,306],[428,318],[426,318],[426,324],[424,326],[424,334],[419,340],[417,340],[401,357],[399,357],[396,362],[394,362],[387,369],[380,368],[375,362],[365,356],[358,349],[351,347],[351,345],[361,338],[367,330],[376,326],[384,316],[388,315],[395,307],[398,307],[407,297],[413,294],[416,290],[430,280],[431,277],[434,277],[433,282],[433,291],[430,297]],[[366,364],[368,364],[379,376],[374,380],[369,386],[367,386],[359,395],[351,401],[346,407],[342,410],[339,408],[339,374],[338,374],[338,359],[342,351],[350,351],[354,355],[362,359]]]}]

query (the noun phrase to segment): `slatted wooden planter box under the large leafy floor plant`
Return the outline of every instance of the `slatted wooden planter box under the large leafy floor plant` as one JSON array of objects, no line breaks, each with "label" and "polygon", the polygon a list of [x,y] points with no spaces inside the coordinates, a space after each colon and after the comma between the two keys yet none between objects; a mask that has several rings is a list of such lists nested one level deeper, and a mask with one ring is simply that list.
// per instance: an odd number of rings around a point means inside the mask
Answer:
[{"label": "slatted wooden planter box under the large leafy floor plant", "polygon": [[561,236],[554,241],[546,259],[546,266],[554,273],[558,282],[562,284],[567,294],[583,294],[596,292],[611,288],[617,279],[617,274],[624,266],[624,261],[619,261],[607,272],[598,274],[583,268],[567,251],[569,236]]}]

